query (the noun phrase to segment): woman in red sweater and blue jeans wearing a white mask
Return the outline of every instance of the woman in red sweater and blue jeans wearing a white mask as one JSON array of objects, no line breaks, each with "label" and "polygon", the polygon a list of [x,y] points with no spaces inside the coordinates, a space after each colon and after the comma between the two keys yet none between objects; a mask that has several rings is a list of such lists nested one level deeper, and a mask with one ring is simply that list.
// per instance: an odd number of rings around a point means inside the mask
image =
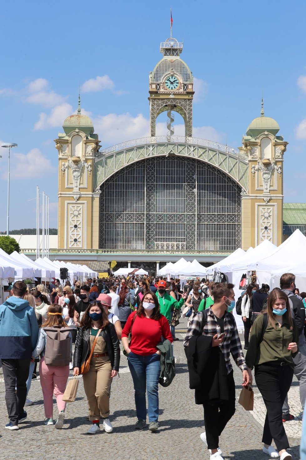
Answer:
[{"label": "woman in red sweater and blue jeans wearing a white mask", "polygon": [[[132,339],[128,342],[128,336]],[[144,293],[139,307],[127,319],[122,331],[122,343],[128,354],[128,364],[134,382],[135,405],[138,421],[136,430],[147,426],[156,432],[159,428],[159,375],[160,351],[156,348],[162,337],[172,342],[170,326],[164,315],[160,314],[156,295]],[[146,405],[147,387],[147,405]]]}]

